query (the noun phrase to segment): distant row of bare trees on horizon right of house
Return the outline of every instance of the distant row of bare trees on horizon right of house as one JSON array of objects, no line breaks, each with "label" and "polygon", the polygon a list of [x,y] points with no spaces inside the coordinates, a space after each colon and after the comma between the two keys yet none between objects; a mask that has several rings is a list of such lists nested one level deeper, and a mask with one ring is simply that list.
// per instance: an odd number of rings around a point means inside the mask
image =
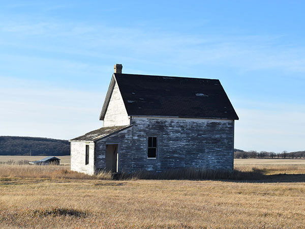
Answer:
[{"label": "distant row of bare trees on horizon right of house", "polygon": [[287,159],[295,159],[295,158],[305,158],[305,151],[297,151],[290,152],[283,151],[282,153],[275,152],[267,152],[267,151],[243,151],[234,149],[234,158],[287,158]]}]

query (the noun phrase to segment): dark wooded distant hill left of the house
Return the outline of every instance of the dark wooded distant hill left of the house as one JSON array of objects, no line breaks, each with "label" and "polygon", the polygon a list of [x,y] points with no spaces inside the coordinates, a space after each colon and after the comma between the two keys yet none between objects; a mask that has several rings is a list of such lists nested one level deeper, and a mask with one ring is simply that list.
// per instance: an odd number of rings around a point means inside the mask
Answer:
[{"label": "dark wooded distant hill left of the house", "polygon": [[45,137],[0,136],[0,155],[70,155],[70,142]]}]

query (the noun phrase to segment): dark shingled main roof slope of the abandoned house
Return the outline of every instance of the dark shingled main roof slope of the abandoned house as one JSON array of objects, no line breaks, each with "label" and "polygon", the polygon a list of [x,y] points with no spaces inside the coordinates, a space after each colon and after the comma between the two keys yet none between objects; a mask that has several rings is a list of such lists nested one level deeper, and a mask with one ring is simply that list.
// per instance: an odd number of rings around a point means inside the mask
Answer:
[{"label": "dark shingled main roof slope of the abandoned house", "polygon": [[218,79],[114,73],[129,116],[238,120]]}]

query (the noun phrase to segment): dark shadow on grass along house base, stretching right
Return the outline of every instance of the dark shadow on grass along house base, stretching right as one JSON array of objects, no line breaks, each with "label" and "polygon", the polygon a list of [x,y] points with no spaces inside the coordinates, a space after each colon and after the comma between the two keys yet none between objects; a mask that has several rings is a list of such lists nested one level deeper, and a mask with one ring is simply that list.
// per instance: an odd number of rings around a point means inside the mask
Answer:
[{"label": "dark shadow on grass along house base, stretching right", "polygon": [[266,175],[266,169],[252,171],[226,171],[181,169],[169,170],[160,173],[151,171],[137,171],[134,173],[114,174],[114,180],[222,180],[231,182],[249,183],[277,183],[277,182],[305,182],[305,174],[277,174]]}]

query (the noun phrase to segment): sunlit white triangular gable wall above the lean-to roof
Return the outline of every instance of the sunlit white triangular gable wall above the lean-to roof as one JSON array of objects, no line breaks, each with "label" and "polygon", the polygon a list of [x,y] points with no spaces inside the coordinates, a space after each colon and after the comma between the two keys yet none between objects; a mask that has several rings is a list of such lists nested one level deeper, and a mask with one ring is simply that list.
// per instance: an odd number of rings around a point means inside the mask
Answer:
[{"label": "sunlit white triangular gable wall above the lean-to roof", "polygon": [[118,85],[114,82],[109,104],[105,113],[103,126],[124,126],[129,125],[128,117],[123,98],[119,92]]}]

